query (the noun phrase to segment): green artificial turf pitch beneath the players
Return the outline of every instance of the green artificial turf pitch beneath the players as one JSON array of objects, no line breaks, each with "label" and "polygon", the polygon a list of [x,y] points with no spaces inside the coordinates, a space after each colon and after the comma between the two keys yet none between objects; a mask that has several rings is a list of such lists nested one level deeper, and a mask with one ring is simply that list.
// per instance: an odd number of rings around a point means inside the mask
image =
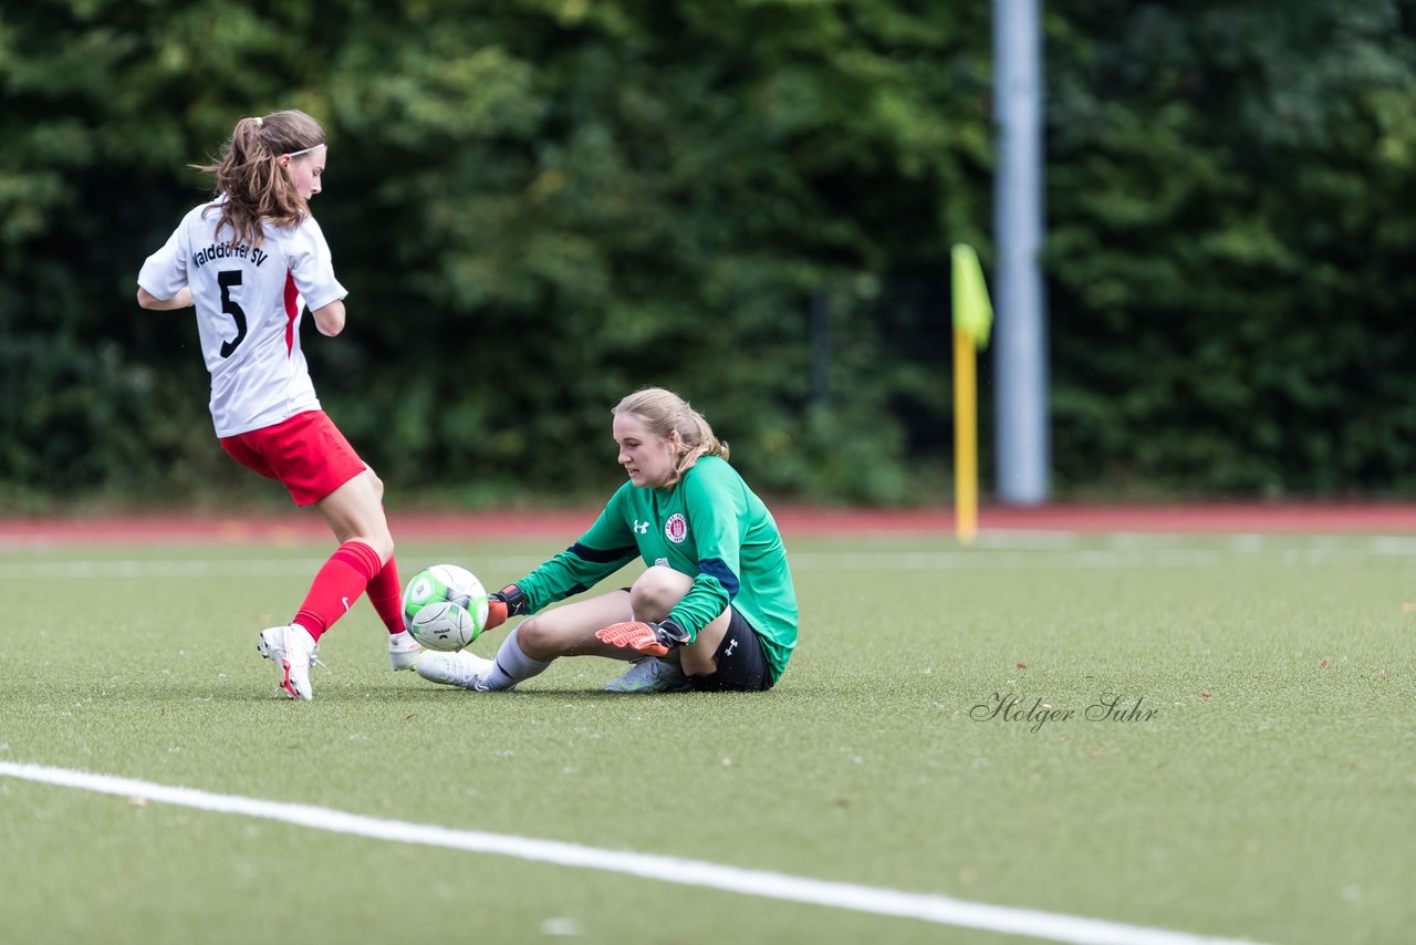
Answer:
[{"label": "green artificial turf pitch beneath the players", "polygon": [[[498,585],[559,547],[399,562]],[[803,636],[767,694],[612,696],[595,659],[436,687],[360,604],[293,704],[256,633],[327,547],[0,548],[0,762],[1194,936],[1416,939],[1416,540],[790,551]],[[1096,718],[1113,697],[1140,711]],[[16,944],[1035,941],[14,776],[0,888]]]}]

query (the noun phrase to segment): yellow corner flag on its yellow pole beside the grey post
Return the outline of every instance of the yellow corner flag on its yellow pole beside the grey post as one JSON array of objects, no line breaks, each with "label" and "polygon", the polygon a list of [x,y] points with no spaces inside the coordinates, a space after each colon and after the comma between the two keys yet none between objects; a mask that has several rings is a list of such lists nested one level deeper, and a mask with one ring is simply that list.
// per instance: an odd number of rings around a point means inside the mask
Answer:
[{"label": "yellow corner flag on its yellow pole beside the grey post", "polygon": [[993,305],[973,247],[953,248],[954,323],[954,533],[963,544],[978,534],[978,381],[976,350],[988,344]]}]

